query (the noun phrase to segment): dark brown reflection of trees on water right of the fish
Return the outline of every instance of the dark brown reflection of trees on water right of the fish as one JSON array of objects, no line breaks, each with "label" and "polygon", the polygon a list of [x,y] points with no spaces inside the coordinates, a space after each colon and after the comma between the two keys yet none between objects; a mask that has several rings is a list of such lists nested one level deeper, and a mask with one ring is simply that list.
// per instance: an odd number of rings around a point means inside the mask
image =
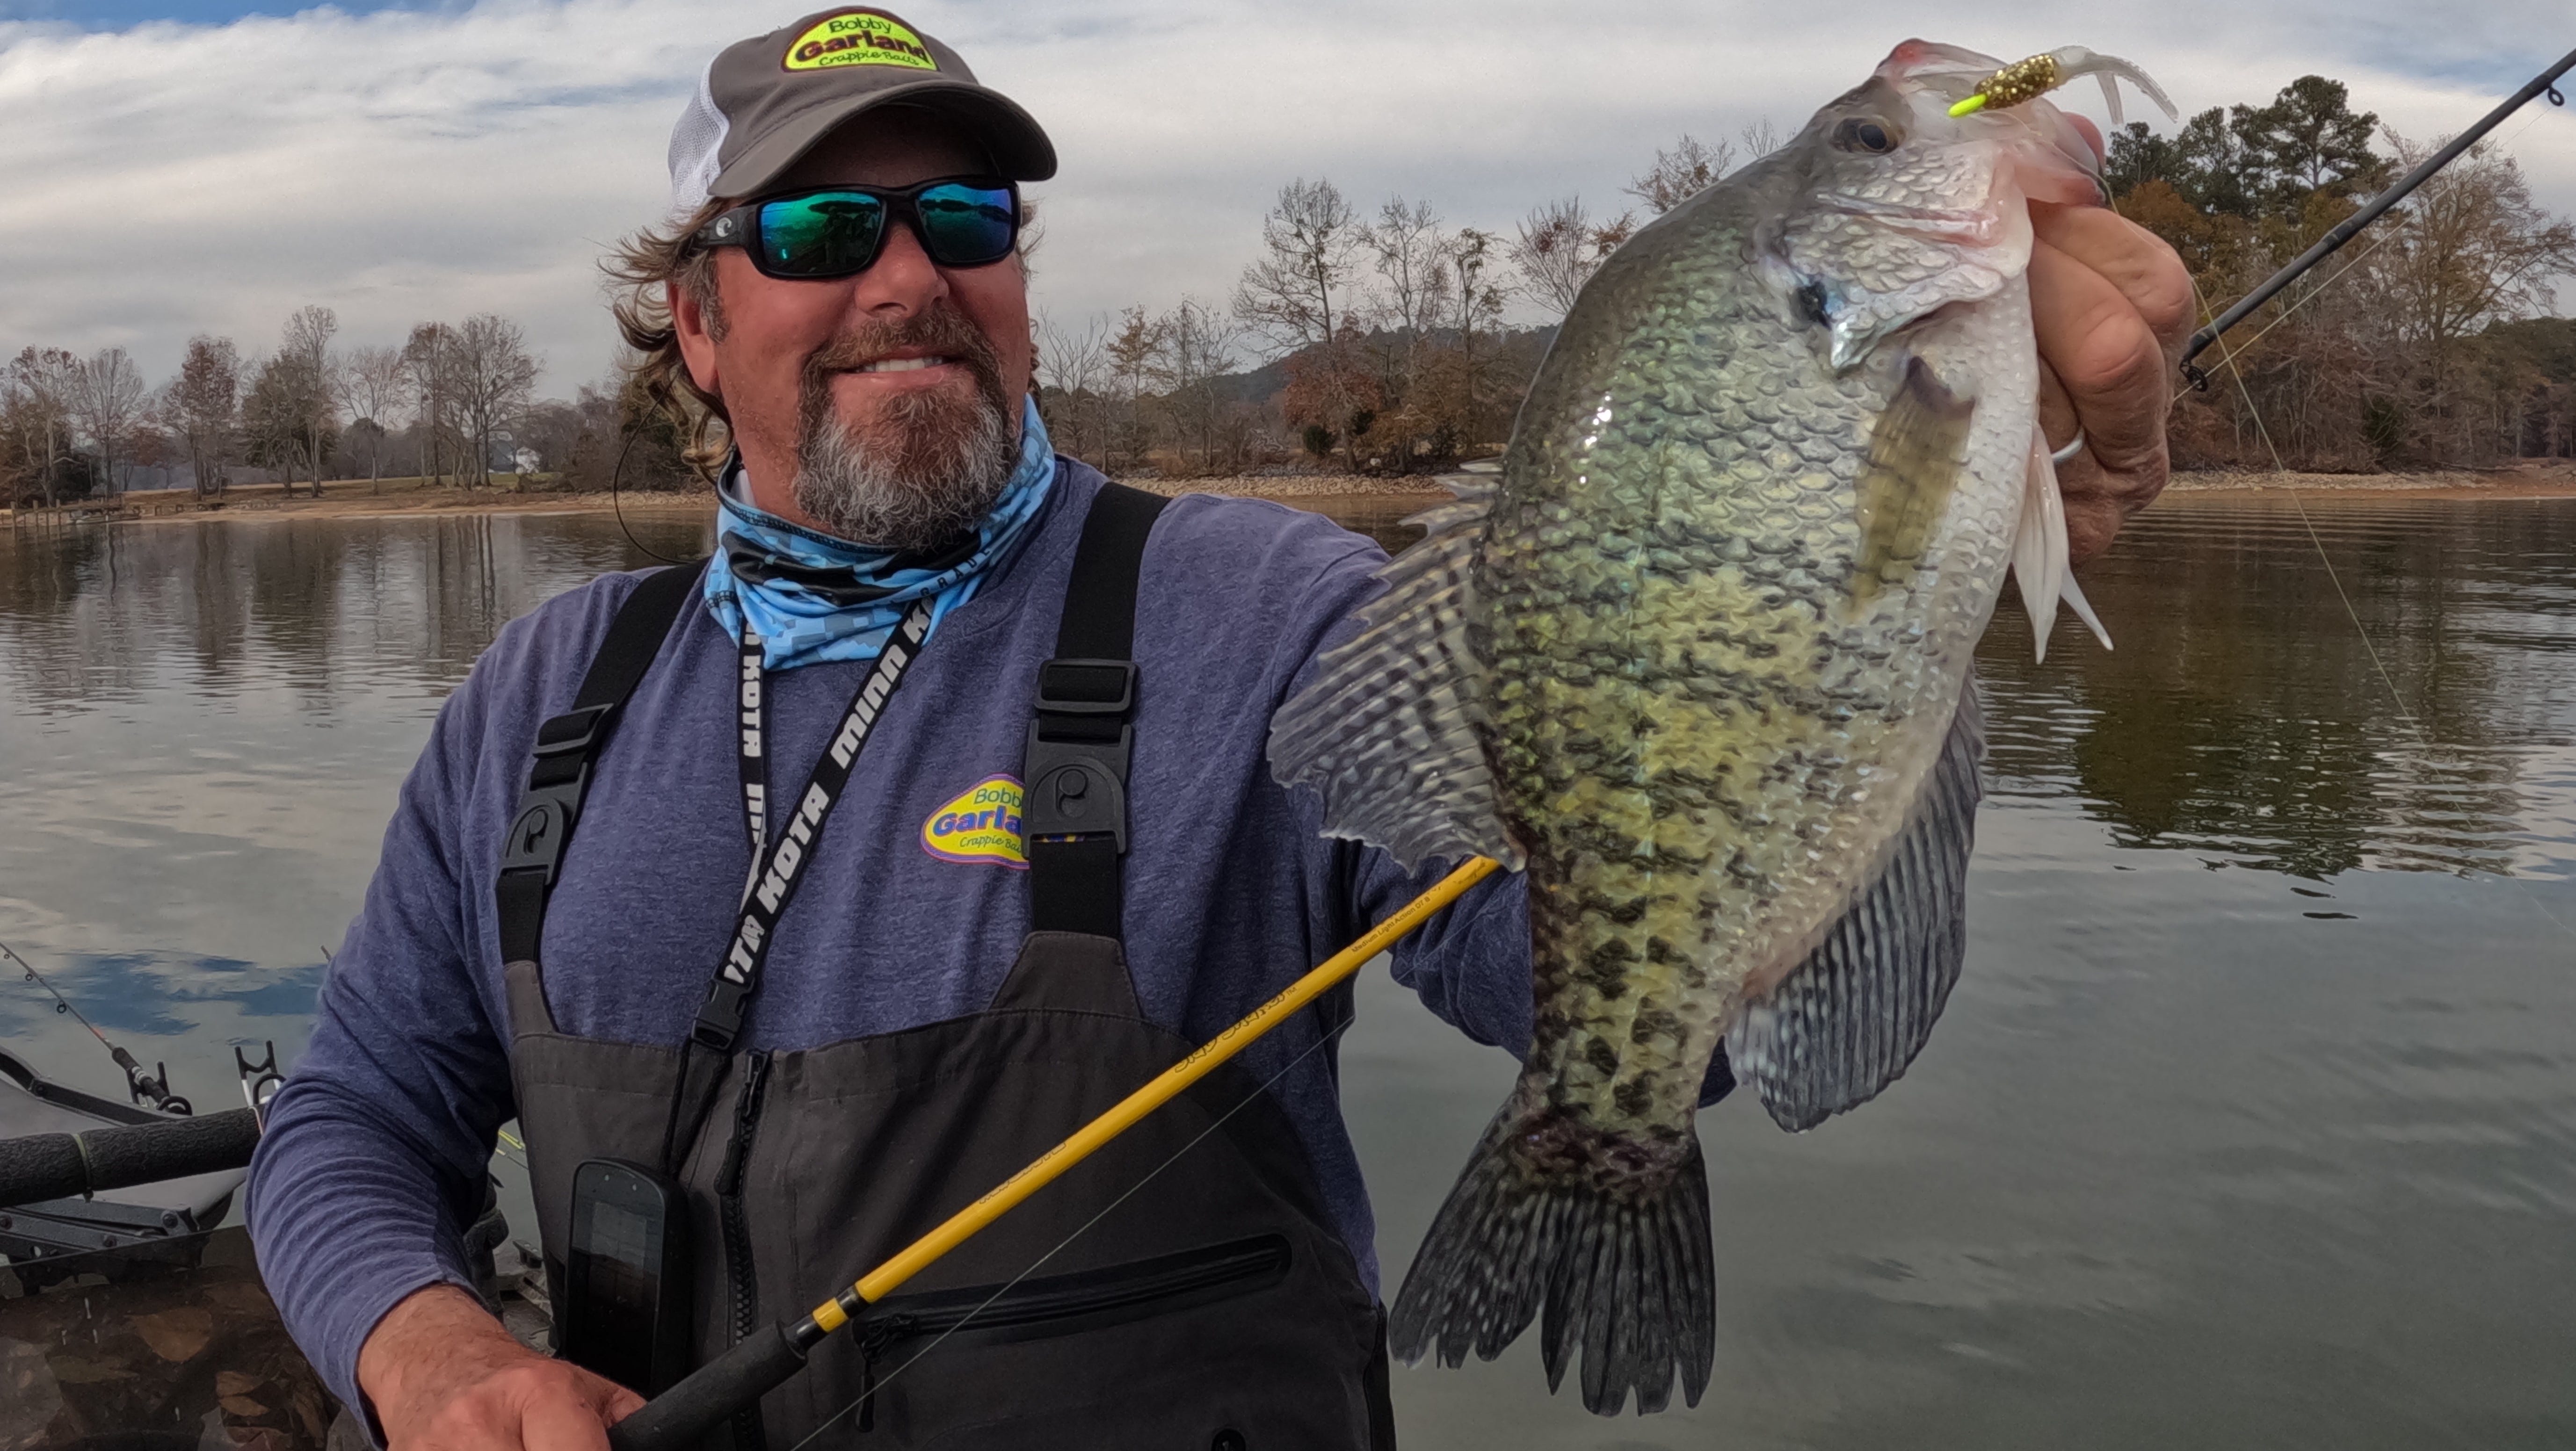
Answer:
[{"label": "dark brown reflection of trees on water right of the fish", "polygon": [[1981,652],[1996,789],[2311,879],[2512,869],[2524,776],[2576,722],[2576,508],[2308,515],[2316,541],[2285,500],[2143,515],[2084,572],[2112,652],[2061,621],[2032,665],[2007,606]]}]

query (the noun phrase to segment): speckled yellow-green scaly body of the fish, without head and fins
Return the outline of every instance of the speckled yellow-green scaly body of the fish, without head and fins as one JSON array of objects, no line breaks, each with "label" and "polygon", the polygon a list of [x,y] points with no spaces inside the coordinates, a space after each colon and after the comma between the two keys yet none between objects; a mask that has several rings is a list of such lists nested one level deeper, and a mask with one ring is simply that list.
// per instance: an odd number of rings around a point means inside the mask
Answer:
[{"label": "speckled yellow-green scaly body of the fish, without head and fins", "polygon": [[[1850,897],[1860,845],[1929,771],[1973,644],[1906,647],[1937,572],[1844,608],[1852,492],[1896,379],[1816,366],[1811,327],[1747,265],[1767,196],[1708,191],[1690,206],[1718,216],[1674,214],[1667,245],[1605,268],[1592,296],[1610,307],[1569,330],[1625,345],[1574,338],[1540,374],[1522,415],[1553,423],[1515,438],[1473,572],[1479,657],[1504,680],[1504,825],[1533,858],[1530,1077],[1551,1108],[1674,1165],[1726,1000],[1795,966]],[[1960,332],[1950,353],[1976,332],[2027,353],[2012,307]],[[2032,381],[1991,351],[1996,381]],[[1989,603],[1978,575],[2002,570],[2022,492],[2007,428],[1963,500],[1963,533],[1989,544],[1953,572]]]}]

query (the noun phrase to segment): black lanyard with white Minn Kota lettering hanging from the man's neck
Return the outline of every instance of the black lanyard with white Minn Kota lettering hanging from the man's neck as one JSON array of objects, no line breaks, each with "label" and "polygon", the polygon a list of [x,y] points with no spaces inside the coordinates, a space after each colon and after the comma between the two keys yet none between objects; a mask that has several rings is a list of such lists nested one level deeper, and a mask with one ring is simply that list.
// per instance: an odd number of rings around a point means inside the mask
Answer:
[{"label": "black lanyard with white Minn Kota lettering hanging from the man's neck", "polygon": [[[747,631],[744,631],[747,634]],[[724,961],[716,966],[716,979],[706,985],[706,1005],[698,1008],[698,1023],[690,1028],[690,1041],[714,1054],[732,1054],[734,1041],[742,1039],[742,1018],[750,1008],[752,992],[760,992],[760,969],[770,956],[770,938],[778,930],[778,918],[788,910],[796,897],[796,884],[804,881],[804,866],[811,861],[814,843],[822,838],[824,822],[832,817],[832,807],[840,804],[842,789],[850,783],[850,765],[858,763],[860,747],[868,745],[868,732],[876,729],[886,701],[894,698],[894,688],[904,683],[904,673],[922,652],[922,642],[930,637],[930,601],[922,598],[904,613],[904,621],[894,626],[886,637],[886,647],[876,655],[876,668],[860,680],[858,693],[850,696],[850,709],[840,719],[840,729],[832,735],[832,745],[824,747],[822,758],[814,763],[814,773],[806,776],[804,791],[796,796],[796,812],[788,817],[786,830],[778,840],[768,838],[768,789],[765,789],[765,760],[762,760],[762,709],[760,709],[760,644],[757,639],[742,647],[742,802],[744,825],[752,835],[752,871],[750,892],[742,897],[742,918],[734,923],[734,941],[724,951]]]}]

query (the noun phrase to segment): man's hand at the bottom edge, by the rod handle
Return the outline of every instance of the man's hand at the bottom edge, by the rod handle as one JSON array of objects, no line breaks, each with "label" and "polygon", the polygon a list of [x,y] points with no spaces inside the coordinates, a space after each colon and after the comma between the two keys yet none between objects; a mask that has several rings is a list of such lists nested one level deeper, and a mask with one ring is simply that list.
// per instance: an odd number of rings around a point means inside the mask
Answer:
[{"label": "man's hand at the bottom edge, by the rod handle", "polygon": [[358,1387],[392,1451],[608,1451],[644,1397],[520,1345],[456,1286],[389,1309],[358,1348]]}]

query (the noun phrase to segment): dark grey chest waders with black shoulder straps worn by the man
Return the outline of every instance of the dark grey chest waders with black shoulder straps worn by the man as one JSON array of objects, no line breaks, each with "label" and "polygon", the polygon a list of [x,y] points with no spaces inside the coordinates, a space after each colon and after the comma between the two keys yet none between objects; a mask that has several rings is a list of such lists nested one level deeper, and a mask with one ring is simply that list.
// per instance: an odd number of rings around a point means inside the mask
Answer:
[{"label": "dark grey chest waders with black shoulder straps worn by the man", "polygon": [[[574,1168],[657,1165],[690,1209],[703,1363],[832,1296],[1190,1052],[1144,1021],[1118,941],[1136,570],[1159,508],[1108,485],[1084,521],[1023,763],[1030,933],[992,1005],[814,1049],[714,1052],[706,1015],[683,1046],[616,1044],[556,1031],[546,1008],[546,894],[590,763],[698,575],[665,570],[629,595],[574,709],[538,727],[497,881],[510,1072],[556,1286]],[[613,843],[587,850],[613,863]],[[853,907],[866,910],[840,905]],[[1394,1446],[1376,1302],[1288,1116],[1236,1064],[868,1307],[708,1446],[791,1451],[853,1402],[822,1446]]]}]

